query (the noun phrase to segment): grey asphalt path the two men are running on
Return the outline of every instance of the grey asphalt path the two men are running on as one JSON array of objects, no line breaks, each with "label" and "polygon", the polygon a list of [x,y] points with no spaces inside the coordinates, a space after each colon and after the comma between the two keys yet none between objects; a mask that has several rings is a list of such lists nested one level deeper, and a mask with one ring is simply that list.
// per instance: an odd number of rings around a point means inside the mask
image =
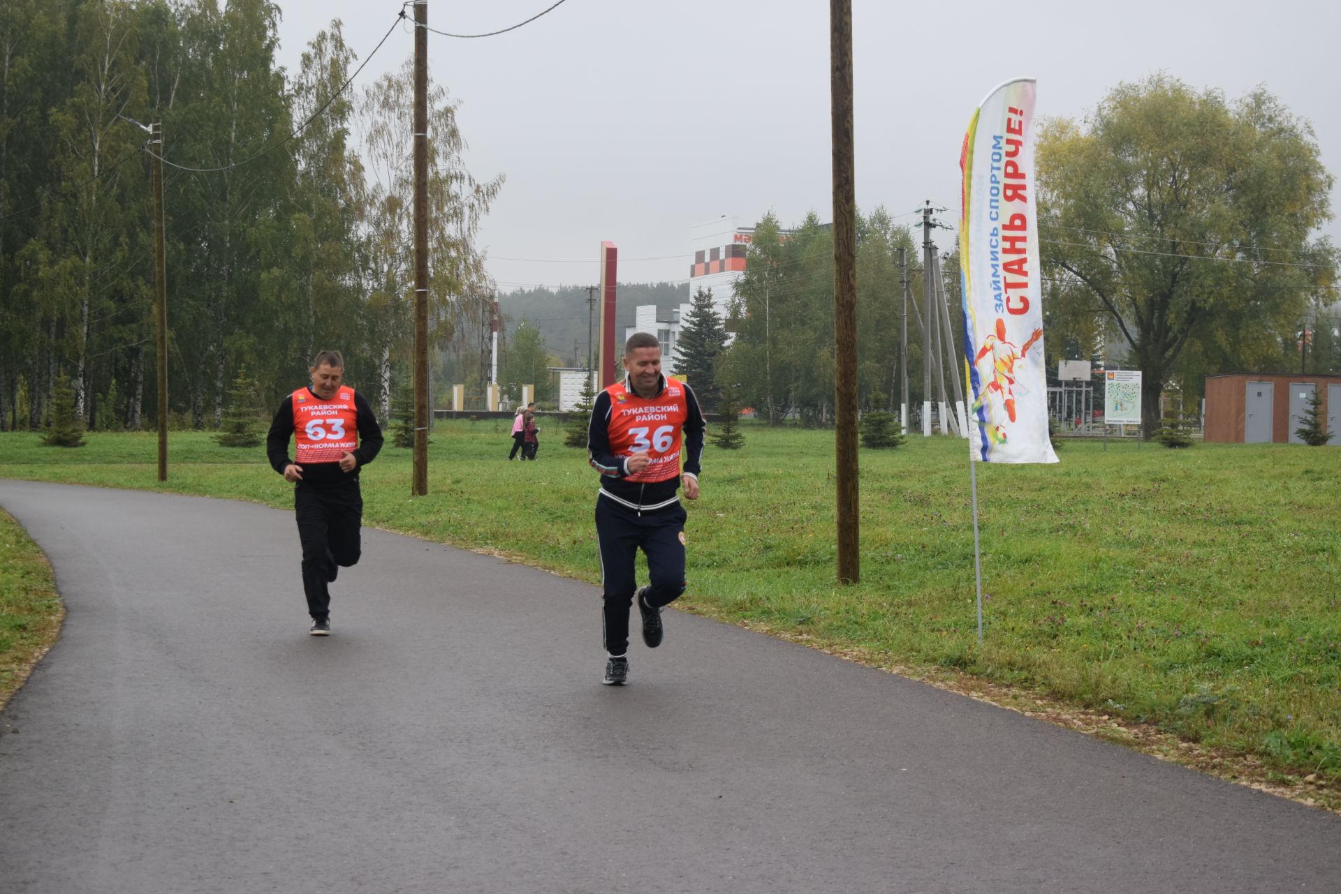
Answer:
[{"label": "grey asphalt path the two men are running on", "polygon": [[292,513],[0,505],[68,610],[0,891],[1341,890],[1330,814],[736,627],[668,611],[602,686],[598,591],[534,568],[365,529],[316,638]]}]

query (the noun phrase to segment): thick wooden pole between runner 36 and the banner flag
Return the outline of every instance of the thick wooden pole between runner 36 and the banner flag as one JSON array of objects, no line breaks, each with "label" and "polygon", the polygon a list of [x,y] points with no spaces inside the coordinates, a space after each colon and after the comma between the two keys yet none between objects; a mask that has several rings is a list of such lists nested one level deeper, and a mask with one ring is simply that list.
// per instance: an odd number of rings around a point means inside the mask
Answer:
[{"label": "thick wooden pole between runner 36 and the banner flag", "polygon": [[838,583],[861,580],[857,487],[857,188],[852,122],[852,0],[829,0],[834,178],[834,460]]}]

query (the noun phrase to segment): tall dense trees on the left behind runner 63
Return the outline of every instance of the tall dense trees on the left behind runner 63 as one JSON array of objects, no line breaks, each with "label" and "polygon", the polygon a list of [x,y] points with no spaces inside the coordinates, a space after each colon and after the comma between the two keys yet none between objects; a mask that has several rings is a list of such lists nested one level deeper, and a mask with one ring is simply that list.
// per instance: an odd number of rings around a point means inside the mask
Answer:
[{"label": "tall dense trees on the left behind runner 63", "polygon": [[[271,0],[0,3],[0,428],[40,428],[62,375],[91,428],[154,424],[150,150],[166,159],[172,424],[217,426],[243,369],[274,407],[319,348],[345,353],[385,416],[413,339],[413,78],[346,84],[410,38],[390,8],[358,47],[337,20],[284,71],[279,19]],[[502,186],[465,169],[455,109],[429,87],[444,357],[489,312],[473,236]],[[150,146],[137,125],[154,118]]]}]

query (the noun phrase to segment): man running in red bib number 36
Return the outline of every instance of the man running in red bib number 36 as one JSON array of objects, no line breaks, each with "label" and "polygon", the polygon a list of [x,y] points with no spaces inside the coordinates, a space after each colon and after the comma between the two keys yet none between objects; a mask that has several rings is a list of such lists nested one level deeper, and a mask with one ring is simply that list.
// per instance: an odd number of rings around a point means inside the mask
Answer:
[{"label": "man running in red bib number 36", "polygon": [[[684,382],[661,374],[661,343],[634,332],[624,346],[626,377],[601,391],[587,428],[587,457],[601,473],[595,532],[605,590],[605,680],[629,678],[629,611],[642,615],[642,642],[661,645],[661,609],[680,598],[684,579],[684,523],[676,492],[699,499],[699,464],[707,425]],[[683,457],[681,457],[683,454]],[[681,458],[684,468],[681,470]],[[634,559],[648,558],[650,583],[637,587]]]}]

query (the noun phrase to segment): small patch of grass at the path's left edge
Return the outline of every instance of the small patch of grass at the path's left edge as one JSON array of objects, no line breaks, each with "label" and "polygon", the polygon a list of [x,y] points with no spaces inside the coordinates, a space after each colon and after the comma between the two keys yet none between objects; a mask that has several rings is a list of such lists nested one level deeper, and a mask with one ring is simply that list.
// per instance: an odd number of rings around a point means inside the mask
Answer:
[{"label": "small patch of grass at the path's left edge", "polygon": [[0,708],[56,641],[63,617],[42,550],[0,512]]}]

